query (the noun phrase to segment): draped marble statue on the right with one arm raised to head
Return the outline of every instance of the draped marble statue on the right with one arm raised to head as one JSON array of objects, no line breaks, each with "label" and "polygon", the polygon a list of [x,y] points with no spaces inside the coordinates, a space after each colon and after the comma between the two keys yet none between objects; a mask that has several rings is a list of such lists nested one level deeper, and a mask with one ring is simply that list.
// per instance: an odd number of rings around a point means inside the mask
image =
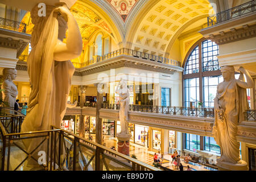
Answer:
[{"label": "draped marble statue on the right with one arm raised to head", "polygon": [[218,163],[242,163],[239,154],[240,143],[236,138],[237,125],[246,119],[246,109],[249,109],[246,89],[253,88],[254,83],[244,68],[240,67],[238,71],[241,75],[236,80],[233,66],[221,67],[224,81],[218,84],[216,98],[214,98],[213,136],[221,148],[221,158],[217,159]]}]

